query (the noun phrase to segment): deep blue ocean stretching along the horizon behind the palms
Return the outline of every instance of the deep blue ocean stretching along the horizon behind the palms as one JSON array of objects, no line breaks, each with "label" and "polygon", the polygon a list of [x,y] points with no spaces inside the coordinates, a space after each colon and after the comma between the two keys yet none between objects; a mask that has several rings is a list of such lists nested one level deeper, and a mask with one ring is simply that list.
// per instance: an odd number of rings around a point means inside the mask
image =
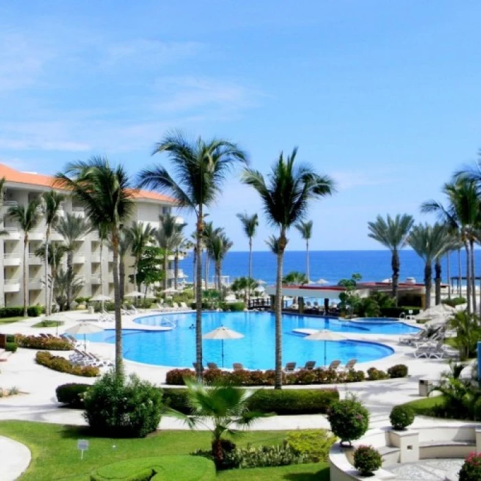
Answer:
[{"label": "deep blue ocean stretching along the horizon behind the palms", "polygon": [[[476,251],[476,267],[481,265],[481,251]],[[311,251],[310,252],[311,280],[324,279],[331,284],[337,284],[339,279],[350,278],[353,273],[360,273],[363,281],[380,281],[392,276],[391,253],[387,250],[379,251]],[[399,253],[401,271],[399,280],[414,277],[416,282],[424,280],[424,261],[412,250],[403,249]],[[466,273],[465,252],[461,253],[462,276]],[[249,252],[230,251],[222,265],[222,275],[230,276],[230,282],[235,278],[247,276]],[[446,258],[443,258],[443,282],[447,282]],[[179,263],[192,282],[192,253]],[[306,252],[286,251],[284,255],[284,274],[289,271],[305,272]],[[253,277],[265,280],[268,284],[276,281],[276,256],[269,251],[254,251],[252,253]],[[477,269],[479,275],[479,269]],[[209,281],[212,282],[214,266],[210,265]],[[434,276],[434,265],[433,265]],[[458,254],[451,253],[451,277],[458,276]]]}]

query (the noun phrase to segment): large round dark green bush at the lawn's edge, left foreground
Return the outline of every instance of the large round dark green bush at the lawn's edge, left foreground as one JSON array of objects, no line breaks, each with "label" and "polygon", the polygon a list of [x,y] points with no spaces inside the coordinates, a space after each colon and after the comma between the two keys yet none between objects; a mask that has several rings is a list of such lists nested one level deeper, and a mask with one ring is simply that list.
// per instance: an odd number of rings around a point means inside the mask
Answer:
[{"label": "large round dark green bush at the lawn's edge, left foreground", "polygon": [[84,417],[103,436],[144,438],[160,422],[161,391],[131,374],[127,381],[111,371],[85,393]]}]

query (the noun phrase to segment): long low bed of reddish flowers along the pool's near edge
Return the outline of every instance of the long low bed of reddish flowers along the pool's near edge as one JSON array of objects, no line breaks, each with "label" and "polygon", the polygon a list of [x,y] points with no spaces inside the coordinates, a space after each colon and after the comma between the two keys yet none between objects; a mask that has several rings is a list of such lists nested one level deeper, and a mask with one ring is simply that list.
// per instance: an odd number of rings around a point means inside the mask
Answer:
[{"label": "long low bed of reddish flowers along the pool's near edge", "polygon": [[[405,372],[407,375],[407,367]],[[368,381],[377,381],[379,379],[390,379],[399,377],[399,368],[394,370],[392,374],[384,371],[370,368],[368,372],[375,374],[369,377]],[[393,375],[394,374],[394,375]],[[221,369],[208,369],[203,372],[205,382],[212,383],[213,381],[223,380],[233,383],[234,385],[274,385],[276,372],[273,370],[267,371],[223,371]],[[184,378],[195,378],[195,372],[191,369],[172,369],[167,373],[166,383],[170,385],[183,385]],[[306,385],[306,384],[336,384],[336,383],[356,383],[364,381],[366,373],[364,371],[357,371],[351,369],[347,372],[335,371],[329,369],[317,368],[313,370],[301,369],[296,372],[282,373],[282,383],[284,385]]]}]

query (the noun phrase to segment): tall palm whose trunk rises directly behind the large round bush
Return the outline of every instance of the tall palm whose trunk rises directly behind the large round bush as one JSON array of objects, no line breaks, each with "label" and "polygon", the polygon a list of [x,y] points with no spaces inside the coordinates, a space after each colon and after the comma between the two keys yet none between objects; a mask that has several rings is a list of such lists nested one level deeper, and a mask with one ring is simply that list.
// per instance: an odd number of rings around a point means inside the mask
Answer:
[{"label": "tall palm whose trunk rises directly behind the large round bush", "polygon": [[122,317],[119,287],[120,230],[133,210],[133,191],[122,166],[111,166],[105,157],[69,164],[56,175],[60,186],[74,194],[92,225],[109,230],[113,251],[113,297],[115,302],[115,374],[122,379]]}]

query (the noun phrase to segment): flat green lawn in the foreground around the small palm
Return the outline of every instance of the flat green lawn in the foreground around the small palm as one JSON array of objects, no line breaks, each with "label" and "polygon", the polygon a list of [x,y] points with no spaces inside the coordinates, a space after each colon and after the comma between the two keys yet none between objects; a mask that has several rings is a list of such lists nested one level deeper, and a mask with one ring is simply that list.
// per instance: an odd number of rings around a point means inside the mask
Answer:
[{"label": "flat green lawn in the foreground around the small palm", "polygon": [[[188,431],[162,431],[144,439],[95,438],[87,429],[30,423],[2,421],[0,434],[27,445],[32,451],[32,463],[21,481],[89,481],[93,469],[128,458],[190,454],[196,449],[210,449],[210,433]],[[286,432],[247,432],[238,445],[273,445],[282,443]],[[78,439],[90,441],[89,451],[80,460],[76,445]],[[280,468],[243,469],[219,474],[221,480],[329,480],[326,463],[294,465]]]}]

